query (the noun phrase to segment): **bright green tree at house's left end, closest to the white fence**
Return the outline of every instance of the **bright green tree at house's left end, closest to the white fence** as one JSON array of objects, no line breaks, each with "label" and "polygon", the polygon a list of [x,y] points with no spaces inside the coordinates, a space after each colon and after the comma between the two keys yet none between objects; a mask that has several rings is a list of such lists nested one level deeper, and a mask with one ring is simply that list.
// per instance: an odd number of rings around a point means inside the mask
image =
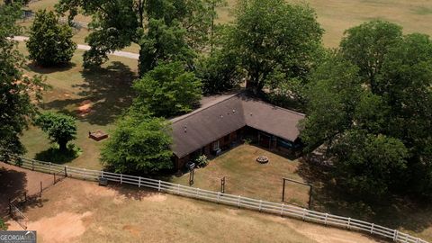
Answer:
[{"label": "bright green tree at house's left end, closest to the white fence", "polygon": [[101,152],[103,165],[116,173],[155,174],[174,168],[169,123],[143,110],[130,110],[117,121]]}]

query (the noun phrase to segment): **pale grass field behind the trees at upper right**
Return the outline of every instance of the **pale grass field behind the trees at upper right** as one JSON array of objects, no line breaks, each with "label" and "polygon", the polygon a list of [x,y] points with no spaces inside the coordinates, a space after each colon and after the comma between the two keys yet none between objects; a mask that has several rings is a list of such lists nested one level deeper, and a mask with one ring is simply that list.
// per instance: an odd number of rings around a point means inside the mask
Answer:
[{"label": "pale grass field behind the trees at upper right", "polygon": [[[344,31],[360,23],[383,19],[403,26],[406,33],[423,32],[432,35],[432,1],[429,0],[287,0],[291,3],[310,4],[318,14],[325,30],[324,44],[337,47]],[[220,22],[233,19],[230,10],[236,0],[228,0],[220,9]]]}]

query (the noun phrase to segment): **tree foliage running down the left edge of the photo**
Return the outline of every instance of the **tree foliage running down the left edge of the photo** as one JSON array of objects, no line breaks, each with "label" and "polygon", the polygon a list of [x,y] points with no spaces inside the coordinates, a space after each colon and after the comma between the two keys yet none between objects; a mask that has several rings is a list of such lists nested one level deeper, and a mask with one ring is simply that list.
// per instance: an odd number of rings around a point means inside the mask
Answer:
[{"label": "tree foliage running down the left edge of the photo", "polygon": [[20,33],[15,24],[21,16],[19,3],[0,4],[0,159],[25,151],[19,136],[34,118],[34,102],[45,85],[40,76],[23,76],[24,58],[10,37]]}]

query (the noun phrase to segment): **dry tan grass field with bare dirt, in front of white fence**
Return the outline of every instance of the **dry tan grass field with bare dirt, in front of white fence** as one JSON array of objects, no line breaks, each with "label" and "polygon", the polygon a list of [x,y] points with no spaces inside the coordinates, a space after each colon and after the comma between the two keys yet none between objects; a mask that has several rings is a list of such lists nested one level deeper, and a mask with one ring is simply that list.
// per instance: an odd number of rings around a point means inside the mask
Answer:
[{"label": "dry tan grass field with bare dirt, in front of white fence", "polygon": [[[66,179],[29,207],[28,229],[38,242],[377,242],[343,229],[320,227],[215,203]],[[9,229],[20,229],[9,221]]]}]

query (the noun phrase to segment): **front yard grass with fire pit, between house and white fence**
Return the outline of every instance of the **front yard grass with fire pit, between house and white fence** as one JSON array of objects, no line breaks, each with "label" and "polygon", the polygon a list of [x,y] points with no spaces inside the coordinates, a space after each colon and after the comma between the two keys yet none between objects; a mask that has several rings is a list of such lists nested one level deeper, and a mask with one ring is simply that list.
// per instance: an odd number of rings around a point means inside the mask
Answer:
[{"label": "front yard grass with fire pit, between house and white fence", "polygon": [[[264,155],[269,163],[259,164],[256,159]],[[278,156],[263,148],[241,145],[210,161],[208,166],[196,169],[193,187],[220,191],[220,178],[226,177],[225,192],[263,199],[282,201],[283,178],[302,181],[296,173],[299,162]],[[174,177],[179,184],[189,184],[189,174]],[[285,188],[285,202],[307,206],[309,187],[289,183]]]}]

